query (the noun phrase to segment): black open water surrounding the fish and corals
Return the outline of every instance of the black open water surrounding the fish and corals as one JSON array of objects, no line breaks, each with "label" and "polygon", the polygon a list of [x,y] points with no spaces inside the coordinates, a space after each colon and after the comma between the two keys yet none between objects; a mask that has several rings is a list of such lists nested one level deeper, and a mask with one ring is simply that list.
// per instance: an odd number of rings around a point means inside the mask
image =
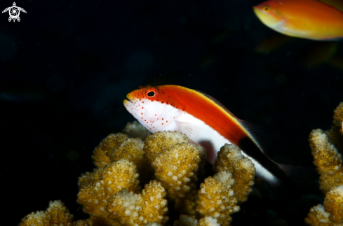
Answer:
[{"label": "black open water surrounding the fish and corals", "polygon": [[[76,203],[77,178],[93,170],[93,148],[133,121],[122,101],[140,85],[206,92],[270,129],[280,162],[304,165],[312,161],[309,132],[329,129],[343,101],[343,65],[330,64],[343,57],[343,44],[292,38],[257,52],[282,36],[257,19],[257,0],[16,3],[27,10],[20,22],[0,15],[0,225],[16,225],[55,199],[87,218]],[[244,212],[254,214],[234,216],[234,225],[277,218],[302,225],[316,203],[292,211],[248,201]]]}]

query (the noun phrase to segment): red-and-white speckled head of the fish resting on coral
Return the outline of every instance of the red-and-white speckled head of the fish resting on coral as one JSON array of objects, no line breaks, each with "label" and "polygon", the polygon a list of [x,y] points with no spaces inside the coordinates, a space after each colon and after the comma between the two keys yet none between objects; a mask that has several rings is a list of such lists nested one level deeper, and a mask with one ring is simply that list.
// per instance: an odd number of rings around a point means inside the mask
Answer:
[{"label": "red-and-white speckled head of the fish resting on coral", "polygon": [[163,92],[164,86],[142,87],[126,95],[123,104],[128,112],[150,132],[177,131],[177,118],[182,113]]}]

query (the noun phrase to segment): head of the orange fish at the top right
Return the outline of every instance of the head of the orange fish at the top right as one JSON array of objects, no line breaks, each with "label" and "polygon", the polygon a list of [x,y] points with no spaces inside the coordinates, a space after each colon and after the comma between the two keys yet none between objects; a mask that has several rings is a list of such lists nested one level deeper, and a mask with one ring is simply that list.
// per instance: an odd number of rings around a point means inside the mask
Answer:
[{"label": "head of the orange fish at the top right", "polygon": [[275,28],[283,21],[281,10],[279,10],[280,3],[282,5],[283,1],[264,1],[257,6],[254,6],[253,9],[264,25]]}]

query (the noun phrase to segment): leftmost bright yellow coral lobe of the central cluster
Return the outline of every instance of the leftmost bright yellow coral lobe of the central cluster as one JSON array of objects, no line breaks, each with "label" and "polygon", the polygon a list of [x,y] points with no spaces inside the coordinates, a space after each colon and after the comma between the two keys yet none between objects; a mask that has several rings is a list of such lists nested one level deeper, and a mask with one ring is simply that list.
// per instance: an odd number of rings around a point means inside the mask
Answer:
[{"label": "leftmost bright yellow coral lobe of the central cluster", "polygon": [[106,219],[109,197],[123,188],[137,190],[137,177],[135,164],[128,160],[119,160],[106,167],[96,168],[93,173],[83,174],[79,178],[77,202],[82,204],[83,211],[91,216]]}]

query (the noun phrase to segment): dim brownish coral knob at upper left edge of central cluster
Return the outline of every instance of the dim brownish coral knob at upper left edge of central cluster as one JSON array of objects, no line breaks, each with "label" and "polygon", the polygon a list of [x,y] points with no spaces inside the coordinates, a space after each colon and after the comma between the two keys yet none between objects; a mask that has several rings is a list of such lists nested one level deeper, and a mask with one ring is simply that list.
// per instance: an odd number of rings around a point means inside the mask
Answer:
[{"label": "dim brownish coral knob at upper left edge of central cluster", "polygon": [[109,134],[105,139],[103,139],[99,145],[94,149],[92,158],[95,166],[105,167],[111,163],[109,160],[109,153],[119,146],[123,141],[128,139],[126,134]]}]

